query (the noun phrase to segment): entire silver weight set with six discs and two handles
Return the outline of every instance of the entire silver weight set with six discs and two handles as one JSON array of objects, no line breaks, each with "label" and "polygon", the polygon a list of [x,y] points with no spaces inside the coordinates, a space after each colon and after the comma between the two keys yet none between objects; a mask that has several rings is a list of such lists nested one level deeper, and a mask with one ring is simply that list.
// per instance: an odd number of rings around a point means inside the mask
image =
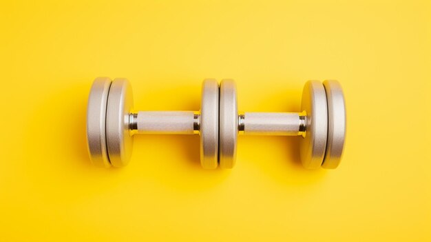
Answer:
[{"label": "entire silver weight set with six discs and two handles", "polygon": [[88,150],[94,164],[122,167],[132,154],[134,134],[200,134],[202,167],[214,169],[220,163],[222,168],[233,168],[238,134],[302,136],[299,150],[305,168],[337,168],[346,136],[341,85],[308,81],[301,110],[238,114],[235,82],[224,79],[219,88],[215,79],[205,79],[200,113],[134,112],[127,79],[98,77],[88,99]]}]

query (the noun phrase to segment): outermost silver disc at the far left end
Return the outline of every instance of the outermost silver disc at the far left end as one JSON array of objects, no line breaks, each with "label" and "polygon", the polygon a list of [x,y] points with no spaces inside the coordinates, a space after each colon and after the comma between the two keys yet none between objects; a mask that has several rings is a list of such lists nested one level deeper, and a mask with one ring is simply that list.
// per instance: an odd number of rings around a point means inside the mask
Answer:
[{"label": "outermost silver disc at the far left end", "polygon": [[111,79],[98,77],[94,80],[87,105],[87,145],[94,165],[109,168],[106,147],[106,105]]}]

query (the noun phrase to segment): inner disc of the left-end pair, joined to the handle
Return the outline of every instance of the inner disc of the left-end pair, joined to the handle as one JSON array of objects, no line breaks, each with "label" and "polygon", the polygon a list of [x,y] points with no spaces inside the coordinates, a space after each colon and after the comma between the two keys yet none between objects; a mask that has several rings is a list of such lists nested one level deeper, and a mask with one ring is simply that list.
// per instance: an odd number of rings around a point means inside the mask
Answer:
[{"label": "inner disc of the left-end pair, joined to the handle", "polygon": [[114,79],[109,89],[106,112],[106,136],[109,161],[115,167],[129,163],[133,138],[129,134],[129,114],[132,112],[132,86],[127,79]]}]

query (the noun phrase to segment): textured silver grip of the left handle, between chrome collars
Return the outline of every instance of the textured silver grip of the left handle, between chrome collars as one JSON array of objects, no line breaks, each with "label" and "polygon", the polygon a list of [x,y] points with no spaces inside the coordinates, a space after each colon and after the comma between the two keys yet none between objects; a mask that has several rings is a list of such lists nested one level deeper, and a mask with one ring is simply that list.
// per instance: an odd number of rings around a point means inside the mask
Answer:
[{"label": "textured silver grip of the left handle, between chrome collars", "polygon": [[193,111],[140,111],[138,134],[193,134]]}]

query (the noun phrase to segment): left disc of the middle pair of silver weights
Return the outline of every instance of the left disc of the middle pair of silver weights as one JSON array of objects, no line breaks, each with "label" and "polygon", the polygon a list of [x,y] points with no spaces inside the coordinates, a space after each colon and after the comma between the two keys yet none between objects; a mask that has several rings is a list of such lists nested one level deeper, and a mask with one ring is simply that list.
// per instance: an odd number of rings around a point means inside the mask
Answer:
[{"label": "left disc of the middle pair of silver weights", "polygon": [[204,169],[218,166],[218,82],[205,79],[200,104],[200,164]]}]

